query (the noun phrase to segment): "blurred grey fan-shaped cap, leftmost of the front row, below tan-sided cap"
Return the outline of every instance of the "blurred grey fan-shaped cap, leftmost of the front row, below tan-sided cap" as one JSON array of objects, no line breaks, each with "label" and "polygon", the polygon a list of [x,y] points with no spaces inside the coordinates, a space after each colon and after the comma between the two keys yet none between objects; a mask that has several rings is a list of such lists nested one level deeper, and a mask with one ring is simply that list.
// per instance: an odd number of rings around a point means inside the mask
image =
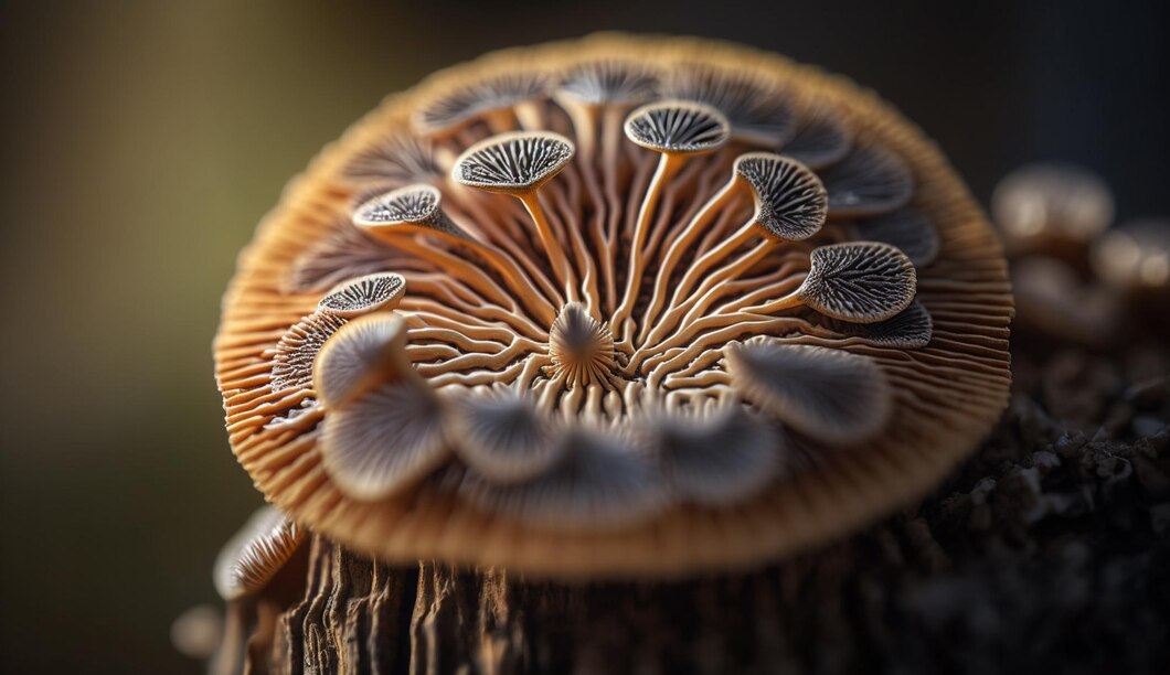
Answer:
[{"label": "blurred grey fan-shaped cap, leftmost of the front row, below tan-sided cap", "polygon": [[424,386],[397,381],[330,411],[321,457],[337,485],[356,500],[410,488],[448,456],[442,408]]}]

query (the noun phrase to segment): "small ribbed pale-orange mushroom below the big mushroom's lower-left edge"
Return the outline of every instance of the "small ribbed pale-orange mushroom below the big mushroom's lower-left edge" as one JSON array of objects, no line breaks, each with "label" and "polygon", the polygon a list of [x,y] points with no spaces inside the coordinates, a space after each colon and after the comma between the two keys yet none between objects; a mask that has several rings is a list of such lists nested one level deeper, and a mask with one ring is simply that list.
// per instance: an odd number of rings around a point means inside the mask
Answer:
[{"label": "small ribbed pale-orange mushroom below the big mushroom's lower-left edge", "polygon": [[261,507],[215,558],[215,591],[236,600],[262,591],[296,553],[304,530],[274,507]]}]

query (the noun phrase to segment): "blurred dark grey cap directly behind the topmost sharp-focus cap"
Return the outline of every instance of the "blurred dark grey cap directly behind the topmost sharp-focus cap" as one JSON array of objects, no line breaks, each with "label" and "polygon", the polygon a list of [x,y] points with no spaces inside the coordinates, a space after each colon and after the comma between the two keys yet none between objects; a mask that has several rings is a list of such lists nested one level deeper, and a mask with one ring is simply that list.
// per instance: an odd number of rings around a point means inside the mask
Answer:
[{"label": "blurred dark grey cap directly behind the topmost sharp-focus cap", "polygon": [[789,95],[764,78],[703,63],[680,63],[663,94],[715,108],[727,117],[732,138],[776,147],[794,130]]}]

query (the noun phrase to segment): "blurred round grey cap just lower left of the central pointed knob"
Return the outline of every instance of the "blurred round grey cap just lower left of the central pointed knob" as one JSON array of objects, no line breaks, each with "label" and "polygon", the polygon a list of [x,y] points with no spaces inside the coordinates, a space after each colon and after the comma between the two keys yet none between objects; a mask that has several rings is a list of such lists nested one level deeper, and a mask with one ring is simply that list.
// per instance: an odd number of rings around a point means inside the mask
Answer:
[{"label": "blurred round grey cap just lower left of the central pointed knob", "polygon": [[497,483],[528,481],[560,459],[555,425],[531,394],[512,387],[467,392],[452,401],[448,436],[461,460]]}]

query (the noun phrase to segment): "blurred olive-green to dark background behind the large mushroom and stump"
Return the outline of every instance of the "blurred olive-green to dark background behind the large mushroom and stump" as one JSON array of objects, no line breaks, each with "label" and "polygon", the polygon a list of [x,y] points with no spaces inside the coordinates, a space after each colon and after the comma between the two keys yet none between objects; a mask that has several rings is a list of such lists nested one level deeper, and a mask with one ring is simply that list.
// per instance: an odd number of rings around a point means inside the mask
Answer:
[{"label": "blurred olive-green to dark background behind the large mushroom and stump", "polygon": [[0,5],[0,670],[197,673],[171,621],[215,602],[261,503],[209,343],[281,186],[387,92],[599,29],[724,37],[882,92],[986,202],[1083,164],[1119,216],[1170,214],[1162,2]]}]

